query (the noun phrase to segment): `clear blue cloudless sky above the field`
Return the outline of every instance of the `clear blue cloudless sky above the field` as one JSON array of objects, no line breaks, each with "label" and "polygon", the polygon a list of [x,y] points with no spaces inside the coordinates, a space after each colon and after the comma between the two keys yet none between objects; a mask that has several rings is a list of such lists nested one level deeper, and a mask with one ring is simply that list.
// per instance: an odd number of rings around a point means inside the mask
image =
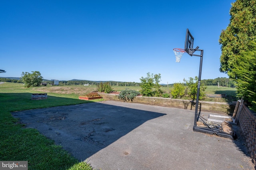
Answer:
[{"label": "clear blue cloudless sky above the field", "polygon": [[234,0],[1,0],[1,77],[40,71],[45,79],[161,82],[198,76],[200,57],[184,48],[186,29],[204,50],[202,79],[219,71],[222,29]]}]

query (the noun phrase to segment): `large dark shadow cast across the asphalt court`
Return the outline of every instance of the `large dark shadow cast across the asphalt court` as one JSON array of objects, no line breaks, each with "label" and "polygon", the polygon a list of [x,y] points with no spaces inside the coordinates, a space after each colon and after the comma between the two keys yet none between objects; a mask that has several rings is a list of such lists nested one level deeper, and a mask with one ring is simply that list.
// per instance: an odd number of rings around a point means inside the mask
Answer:
[{"label": "large dark shadow cast across the asphalt court", "polygon": [[85,160],[150,119],[166,114],[91,102],[12,113]]}]

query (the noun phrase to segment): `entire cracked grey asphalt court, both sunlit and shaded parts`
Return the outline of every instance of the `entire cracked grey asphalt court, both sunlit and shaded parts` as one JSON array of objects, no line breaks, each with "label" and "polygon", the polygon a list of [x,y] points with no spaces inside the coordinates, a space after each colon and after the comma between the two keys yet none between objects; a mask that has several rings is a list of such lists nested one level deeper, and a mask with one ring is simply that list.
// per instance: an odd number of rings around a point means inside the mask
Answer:
[{"label": "entire cracked grey asphalt court, both sunlit and shaded parts", "polygon": [[194,132],[192,110],[105,101],[12,115],[95,169],[254,169],[242,137]]}]

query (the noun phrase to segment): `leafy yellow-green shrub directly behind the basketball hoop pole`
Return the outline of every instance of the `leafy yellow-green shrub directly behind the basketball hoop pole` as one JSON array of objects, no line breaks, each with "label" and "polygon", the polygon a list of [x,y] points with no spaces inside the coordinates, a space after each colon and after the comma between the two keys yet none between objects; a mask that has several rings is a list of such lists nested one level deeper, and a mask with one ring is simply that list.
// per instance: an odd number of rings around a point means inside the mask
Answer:
[{"label": "leafy yellow-green shrub directly behind the basketball hoop pole", "polygon": [[[195,100],[197,96],[198,76],[195,76],[195,78],[190,77],[189,80],[184,79],[184,82],[186,83],[186,86],[188,86],[188,95],[192,98],[192,100]],[[205,90],[206,90],[206,85],[201,83],[199,99],[202,99],[205,96]]]}]

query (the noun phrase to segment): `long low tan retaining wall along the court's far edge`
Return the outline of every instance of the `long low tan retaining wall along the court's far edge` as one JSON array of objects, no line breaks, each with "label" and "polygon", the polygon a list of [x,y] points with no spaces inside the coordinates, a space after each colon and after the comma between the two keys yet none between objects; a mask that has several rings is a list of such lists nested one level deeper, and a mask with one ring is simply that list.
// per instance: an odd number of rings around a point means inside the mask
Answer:
[{"label": "long low tan retaining wall along the court's far edge", "polygon": [[[116,100],[121,101],[118,99],[117,94],[106,94],[106,93],[98,93],[102,98],[107,100]],[[131,102],[131,101],[127,101]],[[176,107],[181,109],[189,109],[195,110],[196,108],[196,101],[192,100],[178,100],[178,99],[171,99],[171,98],[154,98],[154,97],[142,97],[136,96],[132,101],[134,103],[140,104],[150,104],[156,106],[166,106],[166,107]],[[230,103],[221,103],[221,102],[199,102],[198,109],[201,111],[209,111],[213,113],[225,113],[225,114],[232,114],[234,112],[235,104]]]}]

